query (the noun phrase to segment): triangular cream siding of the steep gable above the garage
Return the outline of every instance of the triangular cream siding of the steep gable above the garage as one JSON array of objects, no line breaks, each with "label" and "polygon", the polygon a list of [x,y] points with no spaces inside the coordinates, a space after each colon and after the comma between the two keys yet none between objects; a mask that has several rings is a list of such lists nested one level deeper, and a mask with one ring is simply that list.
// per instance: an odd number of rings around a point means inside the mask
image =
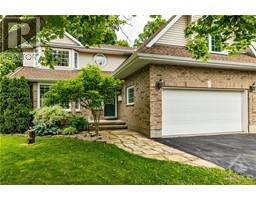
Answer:
[{"label": "triangular cream siding of the steep gable above the garage", "polygon": [[182,16],[156,43],[185,46],[184,30],[188,25],[188,16]]}]

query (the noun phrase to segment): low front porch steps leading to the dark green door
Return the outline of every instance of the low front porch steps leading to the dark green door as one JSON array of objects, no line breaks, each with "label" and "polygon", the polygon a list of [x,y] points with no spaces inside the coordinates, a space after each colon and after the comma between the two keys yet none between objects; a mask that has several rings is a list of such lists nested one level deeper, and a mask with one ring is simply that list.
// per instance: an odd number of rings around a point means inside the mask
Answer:
[{"label": "low front porch steps leading to the dark green door", "polygon": [[[94,122],[90,121],[91,130],[94,130]],[[127,125],[122,120],[100,120],[99,124],[100,130],[117,130],[117,129],[127,129]]]}]

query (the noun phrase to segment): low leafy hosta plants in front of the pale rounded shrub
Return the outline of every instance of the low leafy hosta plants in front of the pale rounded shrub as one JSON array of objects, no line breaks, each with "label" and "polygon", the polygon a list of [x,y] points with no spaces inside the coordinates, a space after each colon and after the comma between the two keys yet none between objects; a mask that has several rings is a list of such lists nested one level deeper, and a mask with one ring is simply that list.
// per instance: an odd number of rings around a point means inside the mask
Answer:
[{"label": "low leafy hosta plants in front of the pale rounded shrub", "polygon": [[57,135],[61,131],[56,125],[47,126],[46,124],[37,124],[35,125],[32,130],[36,135],[43,136],[43,135]]}]

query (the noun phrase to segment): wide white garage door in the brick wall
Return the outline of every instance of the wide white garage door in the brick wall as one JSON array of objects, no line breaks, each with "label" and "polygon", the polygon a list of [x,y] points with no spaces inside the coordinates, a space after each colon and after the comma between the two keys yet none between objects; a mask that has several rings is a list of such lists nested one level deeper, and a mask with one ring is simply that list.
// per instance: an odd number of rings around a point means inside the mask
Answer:
[{"label": "wide white garage door in the brick wall", "polygon": [[164,89],[162,135],[242,131],[244,97],[237,91]]}]

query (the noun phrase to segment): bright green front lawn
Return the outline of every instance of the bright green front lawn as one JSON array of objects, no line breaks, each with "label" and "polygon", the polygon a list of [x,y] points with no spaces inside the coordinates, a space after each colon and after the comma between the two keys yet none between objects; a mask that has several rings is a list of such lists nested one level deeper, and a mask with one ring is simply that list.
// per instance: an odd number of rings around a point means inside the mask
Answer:
[{"label": "bright green front lawn", "polygon": [[231,171],[158,161],[114,145],[0,135],[1,184],[256,184]]}]

